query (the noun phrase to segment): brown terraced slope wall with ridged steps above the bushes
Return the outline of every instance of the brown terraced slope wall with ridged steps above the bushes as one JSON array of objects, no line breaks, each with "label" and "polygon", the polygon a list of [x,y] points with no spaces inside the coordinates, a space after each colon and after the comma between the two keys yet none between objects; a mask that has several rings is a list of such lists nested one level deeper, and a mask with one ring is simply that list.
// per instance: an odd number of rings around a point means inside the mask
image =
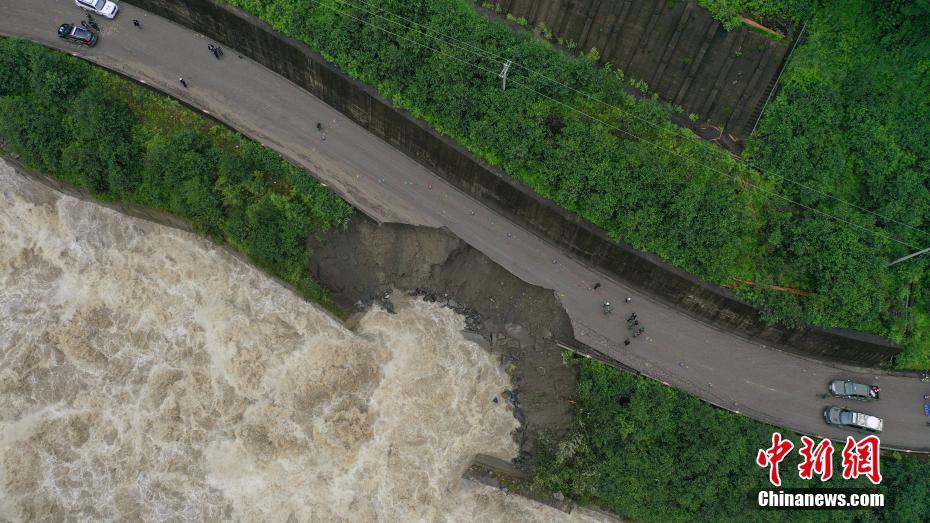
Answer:
[{"label": "brown terraced slope wall with ridged steps above the bushes", "polygon": [[747,28],[724,30],[694,0],[497,0],[528,26],[545,24],[578,49],[644,80],[662,99],[722,124],[737,143],[752,131],[790,48]]}]

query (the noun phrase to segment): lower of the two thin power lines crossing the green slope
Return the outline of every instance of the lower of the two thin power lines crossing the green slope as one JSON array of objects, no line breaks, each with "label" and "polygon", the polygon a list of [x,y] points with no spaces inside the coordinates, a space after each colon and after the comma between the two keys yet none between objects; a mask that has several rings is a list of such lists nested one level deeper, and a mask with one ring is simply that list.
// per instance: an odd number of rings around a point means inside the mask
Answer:
[{"label": "lower of the two thin power lines crossing the green slope", "polygon": [[[455,60],[455,61],[457,61],[457,62],[460,62],[460,63],[463,63],[463,64],[465,64],[465,65],[469,65],[469,66],[475,67],[476,69],[479,69],[480,71],[483,71],[483,72],[485,72],[485,73],[493,74],[493,75],[498,75],[498,74],[499,74],[497,71],[485,69],[485,68],[483,68],[483,67],[478,66],[477,64],[473,64],[473,63],[470,63],[470,62],[468,62],[468,61],[466,61],[466,60],[463,60],[463,59],[461,59],[461,58],[458,58],[458,57],[456,57],[456,56],[450,55],[450,54],[448,54],[448,53],[444,53],[444,52],[442,52],[442,51],[440,51],[440,50],[438,50],[438,49],[436,49],[436,48],[434,48],[434,47],[431,47],[431,46],[429,46],[429,45],[427,45],[427,44],[424,44],[424,43],[422,43],[422,42],[417,42],[417,41],[415,41],[415,40],[413,40],[413,39],[411,39],[411,38],[408,38],[408,37],[406,37],[406,36],[397,34],[397,33],[393,32],[393,31],[390,31],[389,29],[386,29],[386,28],[384,28],[384,27],[378,25],[378,24],[371,23],[371,22],[368,22],[368,21],[363,20],[363,19],[361,19],[361,18],[358,18],[358,17],[356,17],[356,16],[353,16],[352,14],[350,14],[350,13],[344,11],[344,10],[338,9],[338,8],[336,8],[336,7],[334,7],[334,6],[330,6],[330,5],[324,4],[324,3],[323,3],[323,0],[310,0],[310,1],[313,2],[313,3],[315,3],[315,4],[317,4],[317,5],[320,5],[320,6],[322,6],[322,7],[326,7],[327,9],[331,9],[331,10],[333,10],[333,11],[336,11],[336,12],[339,12],[339,13],[341,13],[341,14],[344,14],[344,15],[348,16],[349,18],[352,18],[353,20],[356,20],[356,21],[358,21],[358,22],[360,22],[360,23],[362,23],[362,24],[365,24],[365,25],[367,25],[367,26],[369,26],[369,27],[373,27],[373,28],[375,28],[375,29],[378,29],[378,30],[380,30],[380,31],[383,31],[383,32],[385,32],[385,33],[388,33],[388,34],[390,34],[390,35],[392,35],[392,36],[395,36],[395,37],[397,37],[397,38],[400,38],[400,39],[402,39],[402,40],[406,40],[406,41],[411,42],[411,43],[413,43],[413,44],[415,44],[415,45],[419,45],[419,46],[421,46],[421,47],[423,47],[423,48],[426,48],[426,49],[429,49],[430,51],[433,51],[434,53],[440,54],[440,55],[445,56],[445,57],[447,57],[447,58],[451,58],[451,59],[453,59],[453,60]],[[343,5],[350,5],[350,6],[352,6],[352,7],[355,7],[355,6],[353,6],[352,4],[348,4],[347,2],[343,2],[343,1],[341,1],[341,0],[334,0],[334,1],[336,1],[336,2],[338,2],[338,3],[340,3],[340,4],[343,4]],[[363,11],[364,11],[364,10],[363,10]],[[405,27],[406,27],[406,26],[405,26]],[[420,31],[417,31],[417,32],[420,32]],[[422,32],[420,32],[420,33],[422,34]],[[436,39],[434,38],[434,40],[436,40]],[[440,42],[440,43],[448,44],[448,42]],[[453,45],[452,47],[456,47],[456,46]],[[472,54],[475,54],[475,53],[472,53]],[[483,57],[482,57],[482,58],[483,58]],[[515,80],[511,79],[511,82],[514,82],[514,81],[515,81]],[[520,82],[517,81],[517,84],[518,84],[518,85],[519,85],[519,83],[520,83]],[[707,168],[708,170],[713,171],[713,172],[716,172],[716,173],[721,174],[721,175],[723,175],[723,176],[726,176],[726,177],[730,177],[730,176],[731,176],[731,175],[729,175],[729,174],[727,174],[727,173],[725,173],[725,172],[723,172],[723,171],[720,171],[720,170],[718,170],[718,169],[716,169],[716,168],[710,167],[710,166],[708,166],[707,164],[702,164],[702,163],[698,162],[697,160],[695,160],[695,159],[693,159],[693,158],[690,158],[690,157],[688,157],[688,156],[685,156],[685,155],[682,155],[682,154],[680,154],[680,153],[677,153],[677,152],[675,152],[675,151],[673,151],[673,150],[671,150],[671,149],[666,149],[666,148],[664,148],[664,147],[662,147],[662,146],[660,146],[660,145],[658,145],[658,144],[656,144],[656,143],[654,143],[654,142],[650,142],[649,140],[646,140],[645,138],[642,138],[642,137],[640,137],[640,136],[637,136],[637,135],[631,133],[630,131],[627,131],[627,130],[622,129],[622,128],[617,127],[617,126],[614,126],[614,125],[612,125],[612,124],[610,124],[610,123],[608,123],[608,122],[606,122],[606,121],[604,121],[604,120],[601,120],[600,118],[597,118],[597,117],[592,116],[592,115],[590,115],[590,114],[588,114],[588,113],[586,113],[586,112],[584,112],[584,111],[582,111],[582,110],[580,110],[580,109],[577,109],[577,108],[575,108],[575,107],[572,107],[571,105],[569,105],[569,104],[567,104],[567,103],[565,103],[565,102],[563,102],[563,101],[561,101],[561,100],[558,100],[558,99],[556,99],[556,98],[553,98],[553,97],[551,97],[551,96],[549,96],[549,95],[547,95],[547,94],[541,93],[541,92],[539,92],[539,91],[533,89],[532,87],[530,87],[530,86],[527,85],[527,84],[523,84],[523,86],[524,86],[525,89],[527,89],[527,90],[529,90],[529,91],[532,91],[533,93],[535,93],[535,94],[537,94],[537,95],[539,95],[539,96],[541,96],[541,97],[543,97],[543,98],[546,98],[546,99],[548,99],[548,100],[551,100],[551,101],[553,101],[553,102],[555,102],[555,103],[557,103],[557,104],[559,104],[559,105],[562,105],[562,106],[564,106],[565,108],[567,108],[567,109],[569,109],[569,110],[571,110],[571,111],[577,112],[578,114],[581,114],[581,115],[583,115],[583,116],[585,116],[585,117],[587,117],[587,118],[589,118],[589,119],[591,119],[591,120],[593,120],[593,121],[595,121],[595,122],[598,122],[598,123],[600,123],[601,125],[607,127],[608,129],[613,129],[613,130],[615,130],[615,131],[624,133],[624,134],[626,134],[626,135],[628,135],[628,136],[631,136],[631,137],[633,137],[633,138],[635,138],[635,139],[637,139],[637,140],[639,140],[639,141],[641,141],[641,142],[643,142],[643,143],[649,144],[649,145],[653,146],[654,148],[656,148],[656,149],[658,149],[658,150],[665,151],[665,152],[668,152],[668,153],[670,153],[670,154],[673,154],[673,155],[675,155],[675,156],[677,156],[677,157],[679,157],[679,158],[681,158],[681,159],[683,159],[683,160],[685,160],[685,161],[689,161],[689,162],[696,163],[696,164],[699,165],[699,166],[705,167],[705,168]],[[881,238],[884,238],[884,239],[887,239],[887,240],[890,240],[890,241],[899,243],[899,244],[901,244],[901,245],[904,245],[904,246],[907,246],[907,247],[910,247],[910,248],[914,248],[914,249],[917,249],[917,248],[918,248],[918,246],[916,246],[916,245],[907,243],[907,242],[905,242],[905,241],[903,241],[903,240],[899,240],[899,239],[897,239],[897,238],[895,238],[895,237],[893,237],[893,236],[891,236],[891,235],[888,235],[888,234],[885,234],[885,233],[882,233],[882,232],[879,232],[879,231],[876,231],[876,230],[872,230],[872,229],[869,229],[869,228],[867,228],[867,227],[863,227],[863,226],[861,226],[861,225],[859,225],[859,224],[850,222],[850,221],[845,220],[845,219],[843,219],[843,218],[840,218],[840,217],[838,217],[838,216],[832,215],[832,214],[830,214],[830,213],[827,213],[827,212],[821,211],[821,210],[819,210],[819,209],[815,209],[815,208],[813,208],[813,207],[810,207],[810,206],[808,206],[808,205],[805,205],[805,204],[803,204],[803,203],[797,202],[797,201],[792,200],[791,198],[789,198],[789,197],[787,197],[787,196],[784,196],[784,195],[782,195],[782,194],[779,194],[779,193],[777,193],[777,192],[775,192],[775,191],[771,191],[771,190],[765,189],[764,187],[761,187],[761,186],[759,186],[759,185],[756,185],[756,184],[754,184],[754,183],[752,183],[752,182],[750,182],[750,181],[748,181],[748,180],[742,180],[742,181],[743,181],[743,183],[745,183],[747,186],[752,187],[752,188],[754,188],[754,189],[756,189],[756,190],[758,190],[758,191],[761,191],[761,192],[763,192],[763,193],[769,194],[769,195],[774,196],[774,197],[776,197],[776,198],[782,199],[782,200],[784,200],[784,201],[786,201],[786,202],[793,203],[793,204],[797,205],[798,207],[807,209],[807,210],[812,211],[812,212],[815,212],[815,213],[817,213],[817,214],[826,216],[826,217],[828,217],[828,218],[832,218],[832,219],[834,219],[834,220],[836,220],[836,221],[838,221],[838,222],[844,223],[844,224],[849,225],[849,226],[851,226],[851,227],[853,227],[853,228],[856,228],[856,229],[859,229],[859,230],[862,230],[862,231],[871,233],[871,234],[873,234],[873,235],[875,235],[875,236],[878,236],[878,237],[881,237]]]}]

